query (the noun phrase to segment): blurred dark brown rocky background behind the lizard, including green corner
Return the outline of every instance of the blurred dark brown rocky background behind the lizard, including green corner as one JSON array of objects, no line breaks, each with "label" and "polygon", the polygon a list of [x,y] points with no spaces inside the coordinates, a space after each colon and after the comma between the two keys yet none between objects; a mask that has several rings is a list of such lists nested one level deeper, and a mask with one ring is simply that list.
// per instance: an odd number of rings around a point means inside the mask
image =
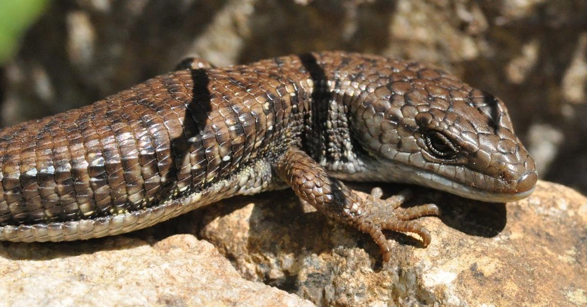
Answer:
[{"label": "blurred dark brown rocky background behind the lizard, including green corner", "polygon": [[83,106],[189,55],[427,62],[499,96],[543,180],[587,193],[587,1],[0,1],[0,124]]}]

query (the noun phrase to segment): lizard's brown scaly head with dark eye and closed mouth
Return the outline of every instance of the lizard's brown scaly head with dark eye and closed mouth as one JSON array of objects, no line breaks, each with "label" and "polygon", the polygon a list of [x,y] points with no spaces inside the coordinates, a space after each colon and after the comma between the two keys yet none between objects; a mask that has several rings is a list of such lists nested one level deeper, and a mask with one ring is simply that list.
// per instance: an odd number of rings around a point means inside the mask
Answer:
[{"label": "lizard's brown scaly head with dark eye and closed mouth", "polygon": [[376,166],[372,174],[482,201],[532,193],[534,160],[500,99],[417,63],[377,65],[379,79],[366,76],[377,82],[350,106],[353,135]]}]

